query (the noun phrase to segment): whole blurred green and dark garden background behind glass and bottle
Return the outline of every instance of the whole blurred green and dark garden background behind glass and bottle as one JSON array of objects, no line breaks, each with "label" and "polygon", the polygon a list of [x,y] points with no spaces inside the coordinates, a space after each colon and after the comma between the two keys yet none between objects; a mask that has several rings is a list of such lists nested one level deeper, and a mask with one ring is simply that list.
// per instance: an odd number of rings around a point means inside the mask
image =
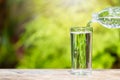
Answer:
[{"label": "whole blurred green and dark garden background behind glass and bottle", "polygon": [[[70,27],[120,0],[0,0],[0,68],[70,68]],[[120,68],[120,29],[93,23],[92,67]]]}]

